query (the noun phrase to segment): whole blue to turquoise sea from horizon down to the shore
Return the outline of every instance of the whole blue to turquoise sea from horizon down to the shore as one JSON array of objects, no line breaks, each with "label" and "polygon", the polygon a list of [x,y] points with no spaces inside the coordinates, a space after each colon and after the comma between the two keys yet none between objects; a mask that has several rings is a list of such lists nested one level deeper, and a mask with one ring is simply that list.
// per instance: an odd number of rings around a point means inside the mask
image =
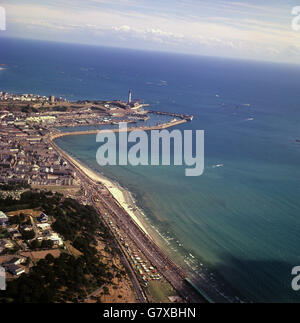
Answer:
[{"label": "whole blue to turquoise sea from horizon down to the shore", "polygon": [[100,167],[94,135],[57,143],[128,188],[194,275],[250,301],[300,301],[291,289],[300,265],[299,66],[5,38],[0,64],[0,91],[126,99],[132,88],[153,110],[193,114],[175,128],[205,131],[200,177],[184,176],[185,166]]}]

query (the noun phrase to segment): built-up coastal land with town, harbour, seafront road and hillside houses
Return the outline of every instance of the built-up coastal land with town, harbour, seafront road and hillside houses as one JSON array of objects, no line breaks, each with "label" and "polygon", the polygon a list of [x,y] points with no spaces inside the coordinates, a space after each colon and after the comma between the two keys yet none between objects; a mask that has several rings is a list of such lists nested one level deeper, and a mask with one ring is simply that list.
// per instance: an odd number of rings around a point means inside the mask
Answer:
[{"label": "built-up coastal land with town, harbour, seafront road and hillside houses", "polygon": [[[22,206],[28,202],[26,194],[30,195],[32,190],[36,192],[34,194],[44,194],[42,192],[47,190],[63,196],[59,202],[62,205],[64,199],[72,199],[80,205],[92,206],[114,237],[120,253],[119,267],[130,273],[130,279],[127,277],[121,284],[130,286],[127,288],[131,290],[131,296],[130,293],[127,295],[130,301],[207,302],[210,298],[206,291],[200,290],[161,251],[134,220],[130,210],[112,194],[109,185],[84,169],[54,142],[55,138],[65,135],[96,133],[99,126],[117,125],[121,121],[132,123],[139,129],[160,129],[193,118],[149,112],[145,110],[146,104],[132,100],[131,95],[130,90],[127,102],[69,102],[54,96],[0,92],[0,198],[4,202],[9,200],[11,204],[16,201]],[[145,125],[152,114],[167,115],[169,119],[165,123]],[[80,130],[79,126],[96,128]],[[77,128],[74,130],[74,127]],[[26,203],[22,202],[24,199]],[[6,205],[4,202],[2,204]],[[36,257],[43,258],[48,253],[61,257],[62,253],[72,254],[72,250],[76,250],[74,243],[64,236],[64,229],[57,225],[59,218],[56,218],[56,213],[49,215],[52,211],[47,213],[45,207],[32,205],[24,210],[21,206],[10,206],[8,212],[0,213],[0,265],[7,270],[8,280],[30,273],[30,268],[37,262]],[[116,257],[112,258],[115,262]],[[89,290],[77,301],[91,301],[88,295],[92,295],[94,300],[102,297],[103,301],[104,294],[113,294],[113,289],[107,284],[106,288],[106,293],[99,287]],[[111,298],[107,300],[112,301]]]}]

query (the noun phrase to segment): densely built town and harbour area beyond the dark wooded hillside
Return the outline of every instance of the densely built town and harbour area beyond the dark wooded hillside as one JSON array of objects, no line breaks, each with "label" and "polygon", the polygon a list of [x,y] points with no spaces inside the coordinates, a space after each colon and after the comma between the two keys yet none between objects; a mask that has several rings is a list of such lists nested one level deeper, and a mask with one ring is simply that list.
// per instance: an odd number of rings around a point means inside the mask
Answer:
[{"label": "densely built town and harbour area beyond the dark wooded hillside", "polygon": [[[30,102],[27,98],[40,101],[37,104],[27,104]],[[0,181],[30,185],[78,185],[76,172],[49,145],[51,137],[57,138],[76,132],[62,132],[58,128],[105,127],[117,125],[119,122],[144,122],[150,118],[148,111],[143,109],[145,106],[147,105],[139,101],[132,102],[131,92],[127,103],[68,102],[54,96],[46,100],[45,97],[32,94],[0,92]],[[191,117],[179,116],[168,125],[186,122],[188,118]],[[98,131],[99,128],[89,129],[87,133]]]}]

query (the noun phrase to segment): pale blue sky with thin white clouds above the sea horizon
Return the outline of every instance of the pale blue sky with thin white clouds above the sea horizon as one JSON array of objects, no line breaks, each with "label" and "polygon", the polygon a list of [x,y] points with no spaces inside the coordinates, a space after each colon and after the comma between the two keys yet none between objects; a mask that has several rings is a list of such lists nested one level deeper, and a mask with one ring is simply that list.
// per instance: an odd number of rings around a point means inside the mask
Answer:
[{"label": "pale blue sky with thin white clouds above the sea horizon", "polygon": [[0,37],[300,64],[300,30],[291,27],[297,5],[300,0],[0,0],[7,21]]}]

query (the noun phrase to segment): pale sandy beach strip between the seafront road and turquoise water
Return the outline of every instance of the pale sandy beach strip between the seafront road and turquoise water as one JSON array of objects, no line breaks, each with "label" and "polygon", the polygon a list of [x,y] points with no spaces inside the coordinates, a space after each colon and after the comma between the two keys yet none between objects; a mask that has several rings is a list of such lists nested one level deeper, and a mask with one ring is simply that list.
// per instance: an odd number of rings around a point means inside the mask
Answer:
[{"label": "pale sandy beach strip between the seafront road and turquoise water", "polygon": [[[66,152],[65,152],[66,153]],[[112,194],[112,196],[119,202],[119,204],[125,209],[125,211],[131,216],[131,218],[135,221],[135,223],[148,235],[145,226],[139,219],[140,211],[136,207],[135,202],[129,192],[127,192],[124,188],[122,188],[117,183],[110,181],[109,179],[105,178],[104,176],[94,172],[87,166],[83,165],[77,159],[71,157],[68,154],[70,160],[80,168],[90,179],[96,182],[101,182]]]}]

